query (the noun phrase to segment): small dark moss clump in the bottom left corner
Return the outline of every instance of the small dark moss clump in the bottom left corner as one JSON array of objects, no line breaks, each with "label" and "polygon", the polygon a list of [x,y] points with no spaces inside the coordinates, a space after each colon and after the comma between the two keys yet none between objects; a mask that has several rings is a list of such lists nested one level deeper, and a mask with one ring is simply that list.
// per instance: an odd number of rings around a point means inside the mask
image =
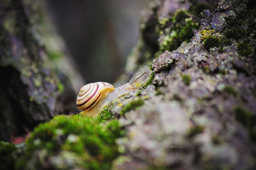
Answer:
[{"label": "small dark moss clump in the bottom left corner", "polygon": [[0,167],[1,169],[14,169],[15,157],[14,152],[16,151],[16,146],[7,143],[0,142]]}]

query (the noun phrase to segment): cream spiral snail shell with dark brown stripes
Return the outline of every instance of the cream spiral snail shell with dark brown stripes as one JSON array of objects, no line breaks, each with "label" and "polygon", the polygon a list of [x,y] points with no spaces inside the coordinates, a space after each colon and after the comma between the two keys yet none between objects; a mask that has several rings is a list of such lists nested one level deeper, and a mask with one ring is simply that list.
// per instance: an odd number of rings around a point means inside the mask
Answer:
[{"label": "cream spiral snail shell with dark brown stripes", "polygon": [[82,111],[89,112],[113,90],[114,86],[110,83],[97,82],[86,84],[80,89],[76,99],[76,106]]}]

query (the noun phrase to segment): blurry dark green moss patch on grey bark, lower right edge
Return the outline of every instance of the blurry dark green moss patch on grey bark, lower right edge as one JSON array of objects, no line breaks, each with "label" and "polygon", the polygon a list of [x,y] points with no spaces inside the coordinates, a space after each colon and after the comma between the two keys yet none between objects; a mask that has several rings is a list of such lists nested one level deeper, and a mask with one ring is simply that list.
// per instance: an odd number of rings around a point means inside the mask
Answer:
[{"label": "blurry dark green moss patch on grey bark, lower right edge", "polygon": [[247,127],[250,125],[250,118],[252,115],[250,112],[246,111],[242,107],[235,107],[234,114],[236,120],[239,121],[243,126]]}]

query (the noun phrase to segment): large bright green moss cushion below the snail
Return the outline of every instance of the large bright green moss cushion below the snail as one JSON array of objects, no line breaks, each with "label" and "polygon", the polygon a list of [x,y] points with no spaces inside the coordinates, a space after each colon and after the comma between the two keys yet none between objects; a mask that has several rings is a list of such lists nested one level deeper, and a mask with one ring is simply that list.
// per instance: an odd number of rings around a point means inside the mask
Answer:
[{"label": "large bright green moss cushion below the snail", "polygon": [[110,169],[118,156],[115,139],[121,136],[118,120],[98,124],[86,116],[56,116],[31,133],[26,141],[26,155],[16,168]]}]

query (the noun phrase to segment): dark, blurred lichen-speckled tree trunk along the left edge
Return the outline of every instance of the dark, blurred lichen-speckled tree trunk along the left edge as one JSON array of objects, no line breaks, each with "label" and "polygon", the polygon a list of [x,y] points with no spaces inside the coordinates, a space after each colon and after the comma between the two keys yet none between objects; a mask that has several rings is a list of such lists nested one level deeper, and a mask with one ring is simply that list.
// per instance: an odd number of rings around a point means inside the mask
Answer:
[{"label": "dark, blurred lichen-speckled tree trunk along the left edge", "polygon": [[[10,142],[11,137],[27,134],[59,111],[76,112],[74,107],[66,111],[64,107],[59,110],[56,107],[67,98],[67,103],[73,103],[76,94],[68,83],[71,76],[54,64],[53,54],[61,61],[67,56],[62,54],[61,40],[54,40],[59,44],[49,43],[51,33],[43,23],[46,13],[42,8],[40,1],[0,2],[0,141]],[[73,70],[69,66],[68,71]]]}]

